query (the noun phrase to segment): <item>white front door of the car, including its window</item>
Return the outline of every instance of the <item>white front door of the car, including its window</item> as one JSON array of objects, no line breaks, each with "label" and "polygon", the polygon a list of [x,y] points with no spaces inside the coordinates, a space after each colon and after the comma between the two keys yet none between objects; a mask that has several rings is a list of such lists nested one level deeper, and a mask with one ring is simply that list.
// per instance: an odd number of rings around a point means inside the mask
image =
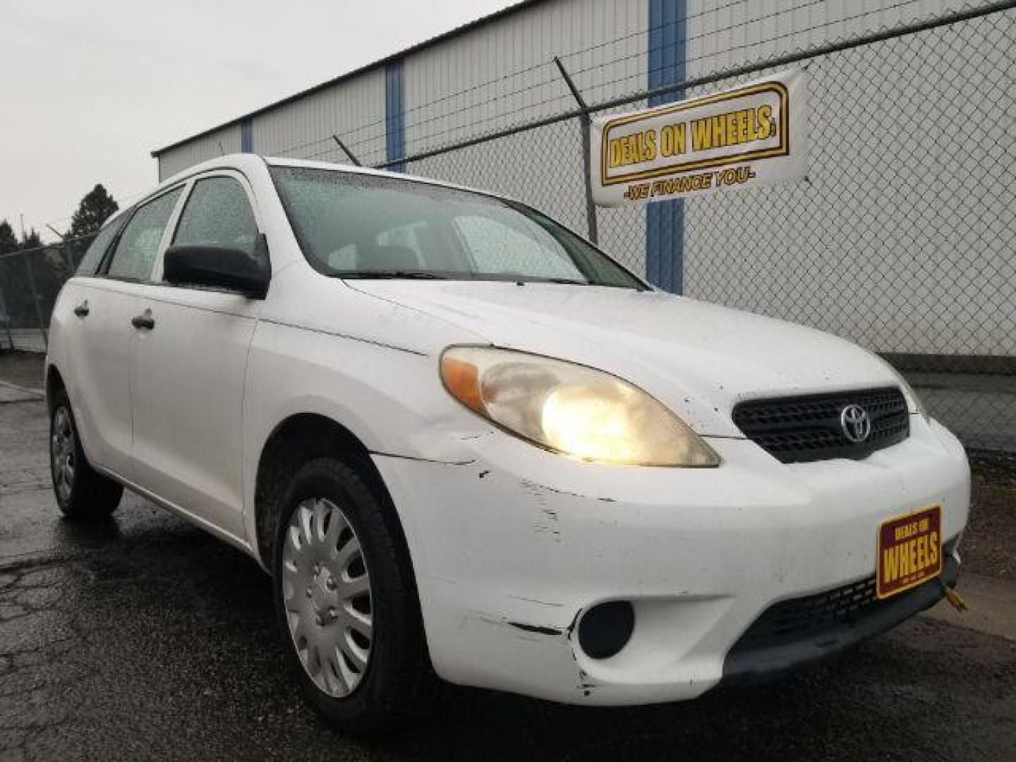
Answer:
[{"label": "white front door of the car, including its window", "polygon": [[[220,171],[191,183],[169,245],[252,253],[259,235],[246,180]],[[241,539],[244,379],[261,304],[235,293],[150,284],[141,308],[152,323],[139,332],[132,384],[138,483]]]}]

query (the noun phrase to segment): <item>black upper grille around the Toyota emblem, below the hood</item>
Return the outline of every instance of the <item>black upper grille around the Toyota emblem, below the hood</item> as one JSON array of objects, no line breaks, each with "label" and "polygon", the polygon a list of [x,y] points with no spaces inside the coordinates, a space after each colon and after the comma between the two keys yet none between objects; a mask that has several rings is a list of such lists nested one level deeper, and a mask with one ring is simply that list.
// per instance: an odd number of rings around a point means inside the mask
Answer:
[{"label": "black upper grille around the Toyota emblem, below the hood", "polygon": [[[843,408],[851,404],[862,407],[871,420],[871,434],[861,443],[847,439],[840,424]],[[784,463],[861,458],[910,434],[906,398],[895,387],[753,399],[735,406],[734,423]]]}]

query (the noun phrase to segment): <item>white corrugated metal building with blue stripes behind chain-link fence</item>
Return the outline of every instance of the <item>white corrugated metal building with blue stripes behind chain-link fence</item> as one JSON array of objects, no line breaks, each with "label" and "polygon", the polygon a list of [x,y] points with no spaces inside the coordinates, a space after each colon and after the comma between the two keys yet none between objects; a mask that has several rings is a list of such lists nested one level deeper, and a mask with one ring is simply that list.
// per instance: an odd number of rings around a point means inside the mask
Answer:
[{"label": "white corrugated metal building with blue stripes behind chain-link fence", "polygon": [[[394,162],[395,169],[403,169],[398,161],[409,157],[404,169],[412,174],[518,197],[584,231],[575,120],[505,136],[496,145],[414,156],[574,110],[555,56],[586,103],[596,105],[965,5],[961,0],[528,0],[153,155],[161,179],[237,150],[343,163],[337,136],[364,165]],[[1003,34],[1002,49],[978,50],[999,45],[998,31],[982,25],[912,37],[827,56],[811,69],[817,74],[809,114],[814,184],[764,195],[743,191],[600,209],[600,245],[663,288],[806,322],[878,351],[1016,355],[1016,277],[1009,276],[1013,265],[998,245],[1002,232],[991,227],[1007,208],[1011,226],[1013,184],[1003,178],[1005,163],[977,157],[971,187],[958,192],[939,179],[944,173],[969,175],[964,155],[939,155],[943,134],[912,129],[936,122],[943,98],[955,100],[954,74],[967,85],[975,78],[962,67],[1005,69],[1013,64],[1012,46],[1005,45]],[[945,70],[948,77],[942,76]],[[960,88],[962,103],[952,108],[983,123],[986,141],[1004,142],[1011,90],[1006,96],[1000,89],[1004,80],[998,79],[985,91],[967,85]],[[905,113],[892,116],[903,99]],[[839,124],[841,113],[849,118],[845,126]],[[881,133],[865,126],[866,120],[880,119],[896,124]],[[960,132],[946,137],[959,139]],[[862,171],[867,175],[859,178]],[[869,181],[884,171],[891,178],[873,190]],[[937,238],[929,238],[927,231],[937,223],[946,224],[938,226]],[[941,259],[939,276],[929,274],[940,266],[928,264],[929,252]],[[863,288],[855,279],[844,288],[846,279],[859,276]],[[988,283],[992,277],[994,285]],[[956,319],[956,304],[990,287],[998,292],[993,302],[1009,307],[966,310]]]}]

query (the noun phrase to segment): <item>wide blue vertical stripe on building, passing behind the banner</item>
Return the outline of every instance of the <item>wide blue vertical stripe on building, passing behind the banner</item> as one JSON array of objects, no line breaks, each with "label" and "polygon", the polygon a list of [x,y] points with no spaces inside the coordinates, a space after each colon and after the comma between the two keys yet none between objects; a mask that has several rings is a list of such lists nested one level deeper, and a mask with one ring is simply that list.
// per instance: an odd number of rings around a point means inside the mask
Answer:
[{"label": "wide blue vertical stripe on building, passing behind the banner", "polygon": [[[649,0],[650,88],[684,81],[688,0]],[[684,88],[649,99],[659,106],[685,97]],[[660,289],[684,292],[685,207],[682,199],[645,207],[645,276]]]}]

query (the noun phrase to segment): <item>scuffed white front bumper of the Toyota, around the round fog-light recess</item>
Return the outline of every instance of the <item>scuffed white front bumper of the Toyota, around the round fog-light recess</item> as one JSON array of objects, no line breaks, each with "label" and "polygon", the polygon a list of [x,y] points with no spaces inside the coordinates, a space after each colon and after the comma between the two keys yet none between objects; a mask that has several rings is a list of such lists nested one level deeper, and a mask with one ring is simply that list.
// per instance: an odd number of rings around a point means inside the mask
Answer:
[{"label": "scuffed white front bumper of the Toyota, around the round fog-light recess", "polygon": [[[907,440],[860,461],[784,464],[747,440],[710,439],[718,468],[612,466],[495,433],[470,440],[468,464],[375,462],[406,533],[440,676],[640,704],[699,696],[724,670],[734,680],[728,654],[763,612],[870,577],[884,519],[938,503],[944,537],[958,537],[963,449],[937,424],[911,424]],[[594,659],[575,627],[608,600],[631,601],[634,631],[617,655]],[[903,619],[917,610],[895,609]],[[777,661],[811,660],[792,656]]]}]

